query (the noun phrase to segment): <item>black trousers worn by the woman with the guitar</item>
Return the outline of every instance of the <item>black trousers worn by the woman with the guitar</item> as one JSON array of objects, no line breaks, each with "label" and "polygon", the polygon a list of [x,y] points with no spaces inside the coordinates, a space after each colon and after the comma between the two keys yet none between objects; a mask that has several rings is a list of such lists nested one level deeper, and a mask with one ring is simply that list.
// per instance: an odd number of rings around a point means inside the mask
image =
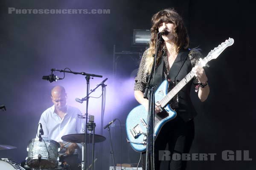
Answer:
[{"label": "black trousers worn by the woman with the guitar", "polygon": [[[167,122],[154,143],[155,170],[185,170],[186,161],[177,155],[189,153],[195,136],[194,121],[184,122],[180,116]],[[172,159],[172,156],[177,156]],[[146,153],[142,153],[142,168],[145,170]],[[148,169],[150,170],[150,169]]]}]

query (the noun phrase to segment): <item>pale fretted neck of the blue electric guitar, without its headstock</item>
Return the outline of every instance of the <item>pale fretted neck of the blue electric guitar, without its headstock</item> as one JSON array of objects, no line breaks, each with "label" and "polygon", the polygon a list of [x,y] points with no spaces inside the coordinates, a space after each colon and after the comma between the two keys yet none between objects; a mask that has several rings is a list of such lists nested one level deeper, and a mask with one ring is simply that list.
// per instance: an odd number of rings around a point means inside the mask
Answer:
[{"label": "pale fretted neck of the blue electric guitar, without its headstock", "polygon": [[165,106],[168,102],[195,76],[195,74],[190,71],[169,93],[160,100],[161,106]]}]

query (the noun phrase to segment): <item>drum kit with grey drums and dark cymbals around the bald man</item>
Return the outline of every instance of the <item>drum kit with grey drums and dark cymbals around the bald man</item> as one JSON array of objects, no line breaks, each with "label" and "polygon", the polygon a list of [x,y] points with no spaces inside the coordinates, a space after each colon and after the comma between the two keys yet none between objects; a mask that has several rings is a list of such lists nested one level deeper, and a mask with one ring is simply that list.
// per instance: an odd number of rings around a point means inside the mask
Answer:
[{"label": "drum kit with grey drums and dark cymbals around the bald man", "polygon": [[[88,134],[89,136],[89,134]],[[61,139],[65,142],[84,143],[84,133],[76,133],[62,136]],[[89,139],[89,138],[87,138]],[[105,141],[106,138],[101,135],[94,135],[94,142],[99,143]],[[87,144],[92,143],[87,140]],[[17,147],[11,145],[0,144],[0,150],[15,149]],[[29,141],[26,158],[26,164],[21,165],[15,161],[7,158],[0,159],[0,170],[69,170],[59,162],[58,152],[60,151],[60,144],[52,139],[44,138],[43,141],[39,139],[31,139]]]}]

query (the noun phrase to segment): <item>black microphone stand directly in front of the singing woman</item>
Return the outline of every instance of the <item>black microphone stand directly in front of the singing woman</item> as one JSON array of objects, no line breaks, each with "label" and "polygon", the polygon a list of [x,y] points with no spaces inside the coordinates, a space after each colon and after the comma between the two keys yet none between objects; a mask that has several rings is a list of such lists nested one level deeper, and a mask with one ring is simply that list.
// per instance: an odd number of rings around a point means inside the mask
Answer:
[{"label": "black microphone stand directly in front of the singing woman", "polygon": [[[154,101],[154,88],[155,83],[153,79],[153,85],[151,83],[151,79],[155,77],[155,69],[156,69],[156,61],[157,61],[157,54],[158,50],[160,48],[162,37],[160,37],[160,40],[158,41],[158,35],[157,35],[157,43],[156,43],[156,54],[154,56],[154,62],[151,68],[151,72],[148,78],[148,82],[145,88],[144,92],[144,98],[148,97],[148,117],[147,117],[147,142],[146,142],[146,170],[149,170],[149,163],[150,163],[150,169],[154,170],[154,111],[155,111],[155,101]],[[158,45],[157,45],[158,44]],[[149,90],[149,91],[148,91]]]}]

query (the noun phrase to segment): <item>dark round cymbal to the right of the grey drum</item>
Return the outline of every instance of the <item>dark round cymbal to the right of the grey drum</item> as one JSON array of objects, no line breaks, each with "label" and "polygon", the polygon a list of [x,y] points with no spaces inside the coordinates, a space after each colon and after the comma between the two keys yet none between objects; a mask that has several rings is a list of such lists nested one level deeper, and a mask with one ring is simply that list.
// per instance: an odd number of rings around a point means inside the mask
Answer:
[{"label": "dark round cymbal to the right of the grey drum", "polygon": [[[65,142],[83,143],[84,142],[84,133],[64,135],[61,137],[61,139],[64,140]],[[94,134],[94,142],[95,143],[103,142],[105,140],[106,140],[106,138],[104,136]],[[89,142],[89,134],[87,133],[87,143],[93,143],[93,134],[91,134],[90,142]]]}]

